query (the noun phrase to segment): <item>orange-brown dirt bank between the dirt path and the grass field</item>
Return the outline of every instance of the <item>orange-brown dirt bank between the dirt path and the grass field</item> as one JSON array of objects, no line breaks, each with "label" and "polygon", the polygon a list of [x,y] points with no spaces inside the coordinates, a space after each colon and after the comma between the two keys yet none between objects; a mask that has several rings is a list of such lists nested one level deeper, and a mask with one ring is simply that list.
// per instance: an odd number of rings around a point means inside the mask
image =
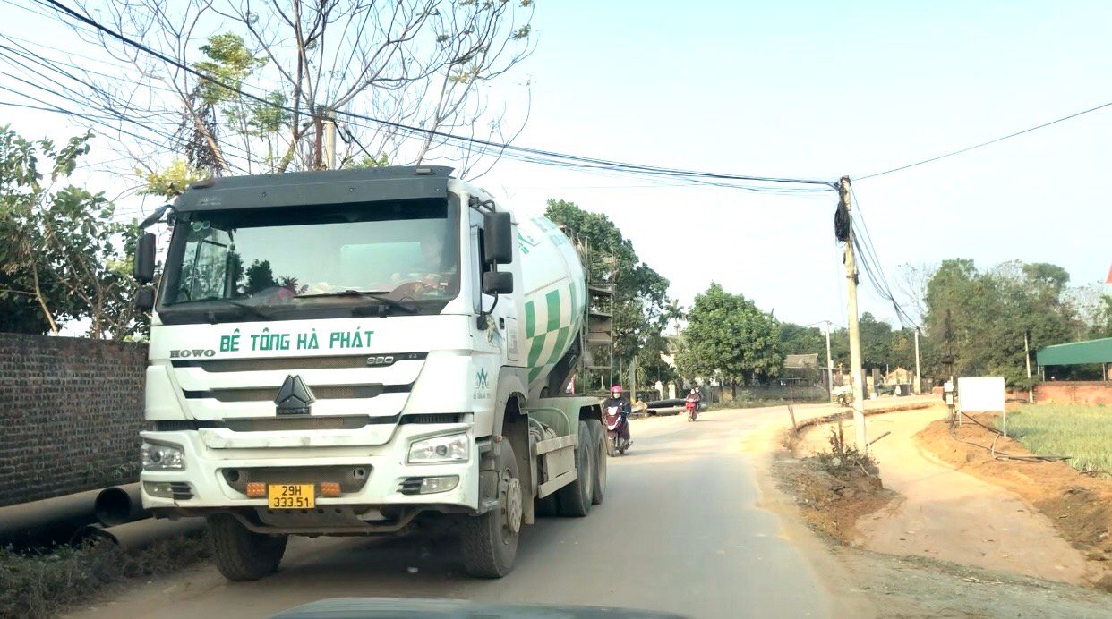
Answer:
[{"label": "orange-brown dirt bank between the dirt path and the grass field", "polygon": [[[985,415],[976,419],[991,426],[992,417]],[[994,448],[996,455],[1030,456],[1031,452],[1017,441],[997,439],[975,423],[965,422],[954,428],[954,436],[951,436],[945,421],[934,421],[915,439],[940,460],[1022,497],[1089,559],[1112,560],[1109,535],[1112,531],[1112,481],[1093,478],[1064,462],[996,459],[990,448]],[[996,439],[995,445],[993,439]],[[1112,590],[1112,577],[1105,576],[1100,586]]]}]

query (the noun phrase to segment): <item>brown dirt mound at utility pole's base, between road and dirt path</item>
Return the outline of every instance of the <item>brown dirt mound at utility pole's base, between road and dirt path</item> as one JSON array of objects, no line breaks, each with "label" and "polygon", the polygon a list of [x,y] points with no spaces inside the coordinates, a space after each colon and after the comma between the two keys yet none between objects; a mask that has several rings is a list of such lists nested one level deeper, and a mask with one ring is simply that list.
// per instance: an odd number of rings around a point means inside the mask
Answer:
[{"label": "brown dirt mound at utility pole's base, between road and dirt path", "polygon": [[881,478],[861,468],[831,465],[823,457],[791,458],[782,453],[773,461],[781,489],[795,498],[803,520],[837,543],[851,543],[857,520],[884,508],[896,498]]}]

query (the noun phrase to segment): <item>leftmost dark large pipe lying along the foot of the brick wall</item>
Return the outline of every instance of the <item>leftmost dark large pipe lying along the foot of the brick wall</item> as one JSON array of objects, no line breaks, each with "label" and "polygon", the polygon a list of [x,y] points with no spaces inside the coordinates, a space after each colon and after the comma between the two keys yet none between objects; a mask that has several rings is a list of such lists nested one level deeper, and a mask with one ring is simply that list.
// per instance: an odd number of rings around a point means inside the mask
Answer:
[{"label": "leftmost dark large pipe lying along the foot of the brick wall", "polygon": [[96,522],[100,490],[0,507],[0,545],[66,543],[81,527]]}]

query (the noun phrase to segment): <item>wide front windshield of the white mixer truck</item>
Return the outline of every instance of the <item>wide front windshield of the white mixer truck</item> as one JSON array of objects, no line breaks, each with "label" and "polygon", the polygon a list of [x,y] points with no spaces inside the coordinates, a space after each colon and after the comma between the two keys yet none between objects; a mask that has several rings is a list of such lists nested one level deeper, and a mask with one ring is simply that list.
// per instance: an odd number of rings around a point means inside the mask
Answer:
[{"label": "wide front windshield of the white mixer truck", "polygon": [[446,302],[459,291],[449,210],[438,199],[183,213],[160,312]]}]

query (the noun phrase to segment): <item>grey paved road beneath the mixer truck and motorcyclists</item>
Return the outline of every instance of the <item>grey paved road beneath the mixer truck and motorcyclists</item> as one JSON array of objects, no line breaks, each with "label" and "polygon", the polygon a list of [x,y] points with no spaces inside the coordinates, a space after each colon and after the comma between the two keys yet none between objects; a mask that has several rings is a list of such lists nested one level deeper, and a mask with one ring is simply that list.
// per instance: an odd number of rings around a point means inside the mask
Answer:
[{"label": "grey paved road beneath the mixer truck and motorcyclists", "polygon": [[[797,416],[830,412],[808,407]],[[830,593],[757,507],[762,429],[784,408],[637,420],[610,460],[606,502],[585,519],[544,518],[523,532],[502,580],[461,575],[455,548],[427,540],[296,539],[278,575],[227,583],[209,566],[156,580],[75,617],[266,617],[328,597],[431,597],[617,606],[693,618],[827,617]],[[749,446],[746,446],[746,442]]]}]

